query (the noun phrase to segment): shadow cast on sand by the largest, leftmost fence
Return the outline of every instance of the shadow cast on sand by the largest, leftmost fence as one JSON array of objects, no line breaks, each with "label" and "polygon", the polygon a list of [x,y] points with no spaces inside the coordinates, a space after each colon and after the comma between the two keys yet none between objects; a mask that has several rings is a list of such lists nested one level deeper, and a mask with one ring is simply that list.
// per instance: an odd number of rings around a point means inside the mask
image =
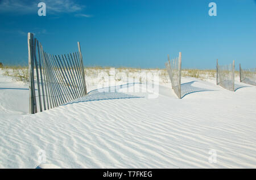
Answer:
[{"label": "shadow cast on sand by the largest, leftmost fence", "polygon": [[119,89],[131,87],[134,84],[141,84],[141,83],[127,83],[127,84],[116,85],[112,87],[94,89],[93,91],[90,91],[87,96],[81,97],[79,99],[73,100],[63,105],[75,104],[79,102],[89,102],[89,101],[117,100],[117,99],[123,99],[123,98],[143,98],[141,96],[127,95],[125,93],[118,92]]}]

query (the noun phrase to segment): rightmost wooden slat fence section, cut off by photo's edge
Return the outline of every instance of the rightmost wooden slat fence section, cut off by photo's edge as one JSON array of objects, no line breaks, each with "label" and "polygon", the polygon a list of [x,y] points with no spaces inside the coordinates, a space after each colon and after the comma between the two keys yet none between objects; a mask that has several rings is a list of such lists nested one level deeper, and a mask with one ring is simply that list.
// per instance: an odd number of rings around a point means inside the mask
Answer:
[{"label": "rightmost wooden slat fence section, cut off by photo's edge", "polygon": [[256,68],[242,70],[241,64],[239,64],[239,75],[240,75],[240,82],[256,85]]}]

